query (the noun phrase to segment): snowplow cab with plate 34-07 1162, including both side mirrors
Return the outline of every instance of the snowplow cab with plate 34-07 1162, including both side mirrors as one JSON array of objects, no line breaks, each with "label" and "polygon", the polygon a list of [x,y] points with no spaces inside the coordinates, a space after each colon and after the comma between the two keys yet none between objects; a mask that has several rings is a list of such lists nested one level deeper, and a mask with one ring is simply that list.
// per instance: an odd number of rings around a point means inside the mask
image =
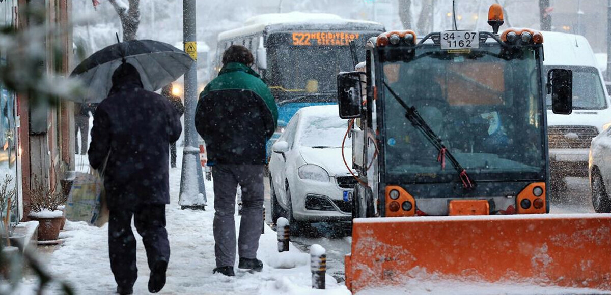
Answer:
[{"label": "snowplow cab with plate 34-07 1162, including both side mirrors", "polygon": [[549,212],[545,98],[571,113],[572,73],[544,71],[539,32],[495,33],[387,32],[338,75],[354,218]]}]

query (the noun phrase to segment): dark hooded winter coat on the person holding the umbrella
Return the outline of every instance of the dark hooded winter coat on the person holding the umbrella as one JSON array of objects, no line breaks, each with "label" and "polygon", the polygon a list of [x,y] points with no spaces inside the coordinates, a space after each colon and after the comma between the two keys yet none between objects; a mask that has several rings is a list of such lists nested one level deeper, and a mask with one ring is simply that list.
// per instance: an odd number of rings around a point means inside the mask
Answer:
[{"label": "dark hooded winter coat on the person holding the umbrella", "polygon": [[163,96],[142,88],[130,64],[112,76],[108,98],[93,115],[89,163],[104,171],[109,208],[169,204],[168,154],[180,137],[180,115]]}]

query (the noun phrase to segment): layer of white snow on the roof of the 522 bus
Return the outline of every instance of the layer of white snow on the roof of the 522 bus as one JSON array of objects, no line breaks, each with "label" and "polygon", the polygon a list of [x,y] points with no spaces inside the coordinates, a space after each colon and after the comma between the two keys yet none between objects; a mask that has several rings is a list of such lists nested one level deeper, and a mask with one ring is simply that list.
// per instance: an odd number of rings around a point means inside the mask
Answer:
[{"label": "layer of white snow on the roof of the 522 bus", "polygon": [[274,24],[371,24],[382,26],[375,21],[348,20],[331,13],[266,13],[252,16],[244,22],[243,27],[227,30],[219,34],[218,40],[226,40],[242,35],[255,34]]}]

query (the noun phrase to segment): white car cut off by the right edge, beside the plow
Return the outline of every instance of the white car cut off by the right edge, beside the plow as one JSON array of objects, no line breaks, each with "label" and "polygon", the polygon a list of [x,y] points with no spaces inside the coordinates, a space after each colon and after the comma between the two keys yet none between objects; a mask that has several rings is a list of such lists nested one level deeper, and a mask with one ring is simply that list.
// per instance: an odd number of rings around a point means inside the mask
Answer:
[{"label": "white car cut off by the right edge, beside the plow", "polygon": [[593,138],[588,157],[592,205],[598,213],[611,212],[611,128]]}]

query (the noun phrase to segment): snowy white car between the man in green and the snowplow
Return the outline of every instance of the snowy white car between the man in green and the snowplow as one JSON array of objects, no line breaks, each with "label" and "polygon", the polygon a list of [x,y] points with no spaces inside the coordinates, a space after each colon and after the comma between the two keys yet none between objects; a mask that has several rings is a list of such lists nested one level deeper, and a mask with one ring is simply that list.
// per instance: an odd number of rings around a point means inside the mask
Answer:
[{"label": "snowy white car between the man in green and the snowplow", "polygon": [[[293,230],[304,222],[350,221],[353,188],[352,140],[337,105],[301,108],[272,147],[269,161],[272,218],[285,217]],[[291,230],[291,232],[293,231]]]}]

